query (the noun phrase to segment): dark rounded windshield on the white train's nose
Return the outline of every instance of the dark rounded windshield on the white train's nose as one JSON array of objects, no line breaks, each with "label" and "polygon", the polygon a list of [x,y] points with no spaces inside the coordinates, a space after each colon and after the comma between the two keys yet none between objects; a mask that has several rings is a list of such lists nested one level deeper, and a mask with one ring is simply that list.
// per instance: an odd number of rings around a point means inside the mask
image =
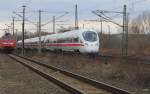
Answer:
[{"label": "dark rounded windshield on the white train's nose", "polygon": [[86,31],[83,33],[83,38],[86,41],[94,42],[97,41],[97,34],[92,31]]}]

